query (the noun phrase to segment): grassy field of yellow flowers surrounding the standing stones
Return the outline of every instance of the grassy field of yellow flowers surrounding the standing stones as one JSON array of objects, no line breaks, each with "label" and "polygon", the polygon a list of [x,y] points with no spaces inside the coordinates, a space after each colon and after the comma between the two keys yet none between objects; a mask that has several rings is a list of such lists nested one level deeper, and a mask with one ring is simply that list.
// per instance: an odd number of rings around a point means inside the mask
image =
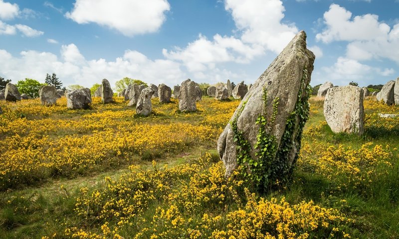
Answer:
[{"label": "grassy field of yellow flowers surrounding the standing stones", "polygon": [[311,99],[292,182],[261,195],[216,153],[239,101],[154,99],[145,118],[115,100],[0,103],[0,238],[399,238],[399,119],[378,117],[399,107],[366,99],[357,136]]}]

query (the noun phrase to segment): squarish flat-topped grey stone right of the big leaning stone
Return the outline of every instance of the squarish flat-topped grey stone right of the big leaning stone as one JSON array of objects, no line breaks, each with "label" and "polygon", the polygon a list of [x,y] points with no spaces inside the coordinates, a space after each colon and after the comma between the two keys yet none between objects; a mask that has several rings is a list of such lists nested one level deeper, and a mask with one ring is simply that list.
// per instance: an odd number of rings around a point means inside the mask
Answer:
[{"label": "squarish flat-topped grey stone right of the big leaning stone", "polygon": [[333,87],[324,100],[324,117],[333,132],[364,132],[364,91],[357,86]]}]

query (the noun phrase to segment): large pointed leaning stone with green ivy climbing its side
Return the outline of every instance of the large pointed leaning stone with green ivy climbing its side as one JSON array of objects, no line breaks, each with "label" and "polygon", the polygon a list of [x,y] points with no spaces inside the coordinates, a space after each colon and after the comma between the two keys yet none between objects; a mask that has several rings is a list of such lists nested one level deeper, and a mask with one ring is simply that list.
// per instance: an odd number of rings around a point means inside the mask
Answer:
[{"label": "large pointed leaning stone with green ivy climbing its side", "polygon": [[[244,140],[249,145],[248,151],[241,148],[240,154],[246,154],[255,162],[259,161],[256,154],[268,149],[255,149],[260,127],[263,127],[264,137],[275,146],[275,150],[267,151],[267,162],[261,162],[270,163],[273,167],[265,168],[266,172],[270,172],[269,177],[262,177],[260,185],[267,187],[271,183],[269,179],[281,181],[290,175],[298,158],[303,126],[308,119],[307,88],[314,60],[314,54],[306,48],[306,33],[300,31],[255,81],[251,94],[245,95],[217,141],[226,177],[238,167],[237,146],[243,146]],[[266,101],[263,99],[265,93]],[[267,119],[264,126],[256,123],[260,116]],[[242,133],[242,140],[235,140],[237,132]],[[250,165],[241,165],[250,169]]]}]

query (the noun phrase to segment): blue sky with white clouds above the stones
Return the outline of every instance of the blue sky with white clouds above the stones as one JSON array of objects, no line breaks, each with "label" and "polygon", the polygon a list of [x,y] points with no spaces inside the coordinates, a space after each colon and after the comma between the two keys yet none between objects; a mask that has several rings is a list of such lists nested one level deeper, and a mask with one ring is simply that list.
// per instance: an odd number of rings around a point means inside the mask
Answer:
[{"label": "blue sky with white clouds above the stones", "polygon": [[253,83],[300,30],[311,85],[399,77],[399,0],[0,0],[0,76]]}]

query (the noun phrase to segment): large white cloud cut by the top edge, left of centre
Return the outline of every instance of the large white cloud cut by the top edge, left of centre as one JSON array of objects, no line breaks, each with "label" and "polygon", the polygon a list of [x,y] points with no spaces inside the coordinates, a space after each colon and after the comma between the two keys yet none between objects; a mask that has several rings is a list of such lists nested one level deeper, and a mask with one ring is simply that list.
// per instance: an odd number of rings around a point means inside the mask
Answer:
[{"label": "large white cloud cut by the top edge, left of centre", "polygon": [[94,22],[133,36],[157,31],[169,10],[167,0],[76,0],[65,16],[79,24]]}]

